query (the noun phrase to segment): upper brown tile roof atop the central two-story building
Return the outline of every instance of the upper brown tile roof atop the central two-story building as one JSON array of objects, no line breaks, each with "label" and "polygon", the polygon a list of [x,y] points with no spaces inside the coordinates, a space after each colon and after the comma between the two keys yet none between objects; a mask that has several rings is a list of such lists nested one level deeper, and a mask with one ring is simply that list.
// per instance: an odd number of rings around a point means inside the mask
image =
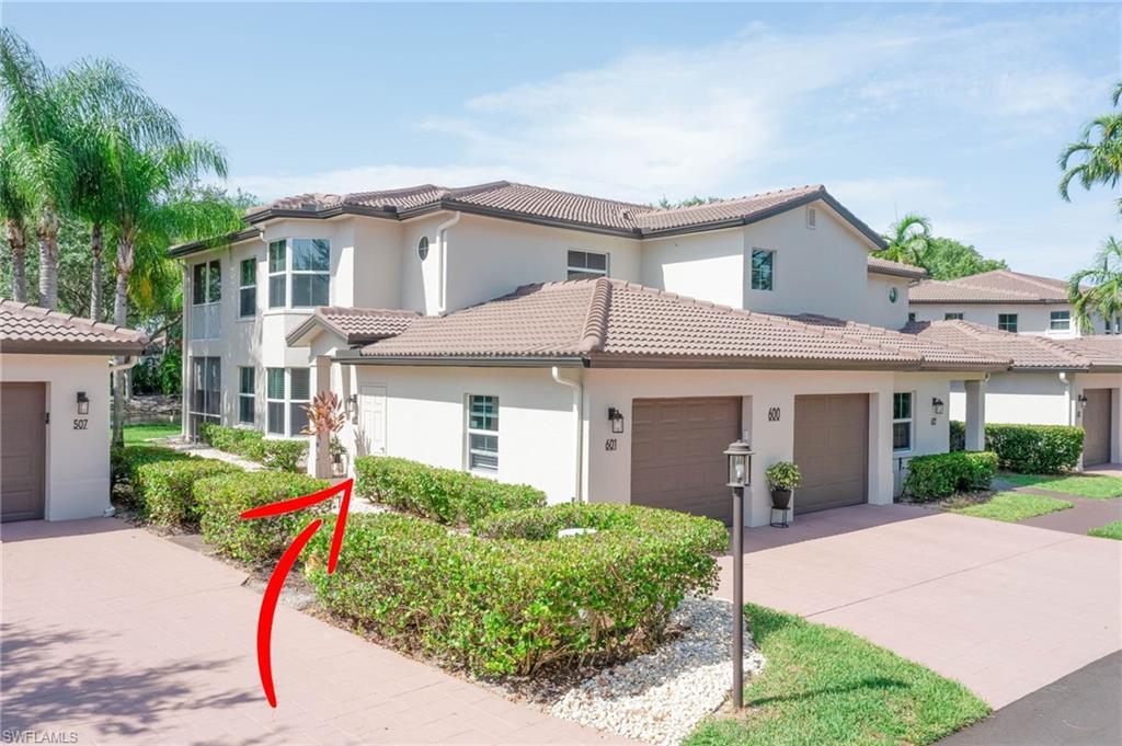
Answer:
[{"label": "upper brown tile roof atop the central two-story building", "polygon": [[[246,221],[256,223],[269,218],[294,215],[330,218],[346,212],[404,220],[436,210],[460,210],[644,238],[746,224],[817,200],[824,201],[872,243],[883,248],[883,239],[821,185],[764,192],[691,208],[661,209],[514,182],[491,182],[458,188],[421,184],[378,192],[297,194],[267,205],[250,208],[246,211]],[[212,246],[213,242],[195,241],[172,247],[171,254],[183,256]]]}]

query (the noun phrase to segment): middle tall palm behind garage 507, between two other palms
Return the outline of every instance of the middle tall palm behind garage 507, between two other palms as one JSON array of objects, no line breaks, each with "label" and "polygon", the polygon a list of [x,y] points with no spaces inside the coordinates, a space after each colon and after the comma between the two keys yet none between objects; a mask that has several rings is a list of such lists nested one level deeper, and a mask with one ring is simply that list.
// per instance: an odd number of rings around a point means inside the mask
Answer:
[{"label": "middle tall palm behind garage 507, between two other palms", "polygon": [[58,77],[55,88],[77,164],[74,212],[91,229],[90,315],[100,321],[105,225],[112,222],[114,211],[111,159],[117,145],[173,145],[183,135],[175,117],[144,92],[131,71],[116,62],[80,62]]}]

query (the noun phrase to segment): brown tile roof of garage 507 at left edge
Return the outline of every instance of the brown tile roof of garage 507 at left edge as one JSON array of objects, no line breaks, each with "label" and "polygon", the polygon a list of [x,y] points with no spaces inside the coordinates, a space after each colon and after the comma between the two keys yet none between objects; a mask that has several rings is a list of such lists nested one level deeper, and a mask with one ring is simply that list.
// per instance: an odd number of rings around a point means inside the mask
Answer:
[{"label": "brown tile roof of garage 507 at left edge", "polygon": [[147,342],[131,329],[0,298],[0,352],[130,354]]}]

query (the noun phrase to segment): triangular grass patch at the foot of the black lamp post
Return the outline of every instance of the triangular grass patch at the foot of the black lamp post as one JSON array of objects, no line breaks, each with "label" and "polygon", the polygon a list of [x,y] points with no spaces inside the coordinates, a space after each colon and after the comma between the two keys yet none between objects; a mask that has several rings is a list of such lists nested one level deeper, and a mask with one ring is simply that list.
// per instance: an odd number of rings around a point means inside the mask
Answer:
[{"label": "triangular grass patch at the foot of the black lamp post", "polygon": [[767,663],[745,710],[703,722],[683,743],[930,744],[990,712],[959,683],[852,633],[748,604]]}]

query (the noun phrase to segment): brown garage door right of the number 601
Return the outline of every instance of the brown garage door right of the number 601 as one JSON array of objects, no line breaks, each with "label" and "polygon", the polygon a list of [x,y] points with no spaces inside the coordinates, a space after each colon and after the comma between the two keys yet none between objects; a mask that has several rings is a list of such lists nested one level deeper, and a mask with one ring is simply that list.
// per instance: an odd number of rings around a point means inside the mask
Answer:
[{"label": "brown garage door right of the number 601", "polygon": [[635,399],[632,503],[733,518],[725,449],[741,436],[741,399]]}]

